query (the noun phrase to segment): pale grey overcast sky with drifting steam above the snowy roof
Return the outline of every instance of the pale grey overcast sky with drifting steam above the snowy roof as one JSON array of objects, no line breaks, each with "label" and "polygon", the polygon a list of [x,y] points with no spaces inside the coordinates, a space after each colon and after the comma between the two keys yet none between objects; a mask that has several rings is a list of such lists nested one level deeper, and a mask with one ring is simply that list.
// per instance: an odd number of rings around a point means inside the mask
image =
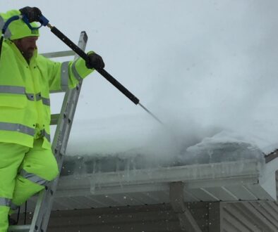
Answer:
[{"label": "pale grey overcast sky with drifting steam above the snowy roof", "polygon": [[[262,150],[278,147],[277,1],[0,1],[3,12],[23,6],[39,7],[73,41],[85,30],[87,51],[186,146],[225,127]],[[38,46],[67,50],[48,28]],[[83,84],[69,149],[159,146],[158,127],[94,73]]]}]

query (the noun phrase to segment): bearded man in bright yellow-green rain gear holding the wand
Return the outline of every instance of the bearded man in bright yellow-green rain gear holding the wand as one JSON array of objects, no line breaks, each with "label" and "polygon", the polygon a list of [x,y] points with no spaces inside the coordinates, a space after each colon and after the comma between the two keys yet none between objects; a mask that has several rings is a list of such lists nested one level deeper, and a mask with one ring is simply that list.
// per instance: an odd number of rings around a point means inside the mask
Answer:
[{"label": "bearded man in bright yellow-green rain gear holding the wand", "polygon": [[[13,15],[27,15],[37,27],[42,13],[25,7],[0,14],[0,28]],[[49,91],[74,88],[92,72],[104,68],[96,53],[57,63],[37,54],[38,30],[23,20],[11,22],[0,58],[0,232],[8,229],[8,214],[47,186],[58,174],[49,138]]]}]

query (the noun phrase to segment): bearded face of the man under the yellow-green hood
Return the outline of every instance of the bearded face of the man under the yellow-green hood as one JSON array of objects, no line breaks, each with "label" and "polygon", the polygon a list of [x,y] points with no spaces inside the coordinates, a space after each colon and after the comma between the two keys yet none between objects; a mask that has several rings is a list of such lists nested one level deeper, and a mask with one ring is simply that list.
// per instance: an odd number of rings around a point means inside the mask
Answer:
[{"label": "bearded face of the man under the yellow-green hood", "polygon": [[15,39],[14,43],[18,47],[19,51],[23,54],[23,57],[28,62],[34,55],[35,49],[37,49],[36,41],[38,37],[25,37],[21,39]]}]

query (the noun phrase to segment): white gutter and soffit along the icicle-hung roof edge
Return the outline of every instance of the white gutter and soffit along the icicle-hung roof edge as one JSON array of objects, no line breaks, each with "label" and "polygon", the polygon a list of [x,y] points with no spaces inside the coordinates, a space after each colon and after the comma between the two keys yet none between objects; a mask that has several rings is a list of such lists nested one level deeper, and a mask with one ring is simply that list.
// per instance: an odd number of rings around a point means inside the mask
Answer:
[{"label": "white gutter and soffit along the icicle-hung roof edge", "polygon": [[61,176],[56,197],[169,193],[169,183],[182,181],[184,191],[197,194],[199,200],[275,200],[277,162],[265,165],[254,159]]}]

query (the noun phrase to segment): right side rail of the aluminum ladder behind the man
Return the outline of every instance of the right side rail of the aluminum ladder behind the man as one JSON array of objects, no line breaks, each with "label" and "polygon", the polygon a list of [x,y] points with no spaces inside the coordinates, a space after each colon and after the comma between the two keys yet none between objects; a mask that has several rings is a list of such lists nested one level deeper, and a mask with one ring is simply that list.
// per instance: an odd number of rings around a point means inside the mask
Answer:
[{"label": "right side rail of the aluminum ladder behind the man", "polygon": [[[81,32],[78,42],[78,46],[80,46],[80,49],[85,50],[86,42],[87,34],[85,32]],[[78,58],[78,55],[75,55],[75,59],[76,58]],[[59,172],[61,172],[61,168],[63,165],[64,155],[66,153],[66,146],[71,131],[71,124],[73,122],[75,108],[78,103],[81,86],[82,82],[80,82],[74,89],[66,91],[64,102],[61,108],[61,114],[56,127],[55,136],[52,143],[52,151],[56,157]],[[59,176],[54,179],[52,183],[49,184],[49,187],[42,196],[42,200],[37,202],[37,204],[39,204],[36,206],[36,209],[38,210],[36,216],[37,218],[33,218],[30,231],[47,231],[47,225],[49,222],[49,217],[52,210],[52,203],[54,200],[54,193],[56,191],[58,181]]]}]

